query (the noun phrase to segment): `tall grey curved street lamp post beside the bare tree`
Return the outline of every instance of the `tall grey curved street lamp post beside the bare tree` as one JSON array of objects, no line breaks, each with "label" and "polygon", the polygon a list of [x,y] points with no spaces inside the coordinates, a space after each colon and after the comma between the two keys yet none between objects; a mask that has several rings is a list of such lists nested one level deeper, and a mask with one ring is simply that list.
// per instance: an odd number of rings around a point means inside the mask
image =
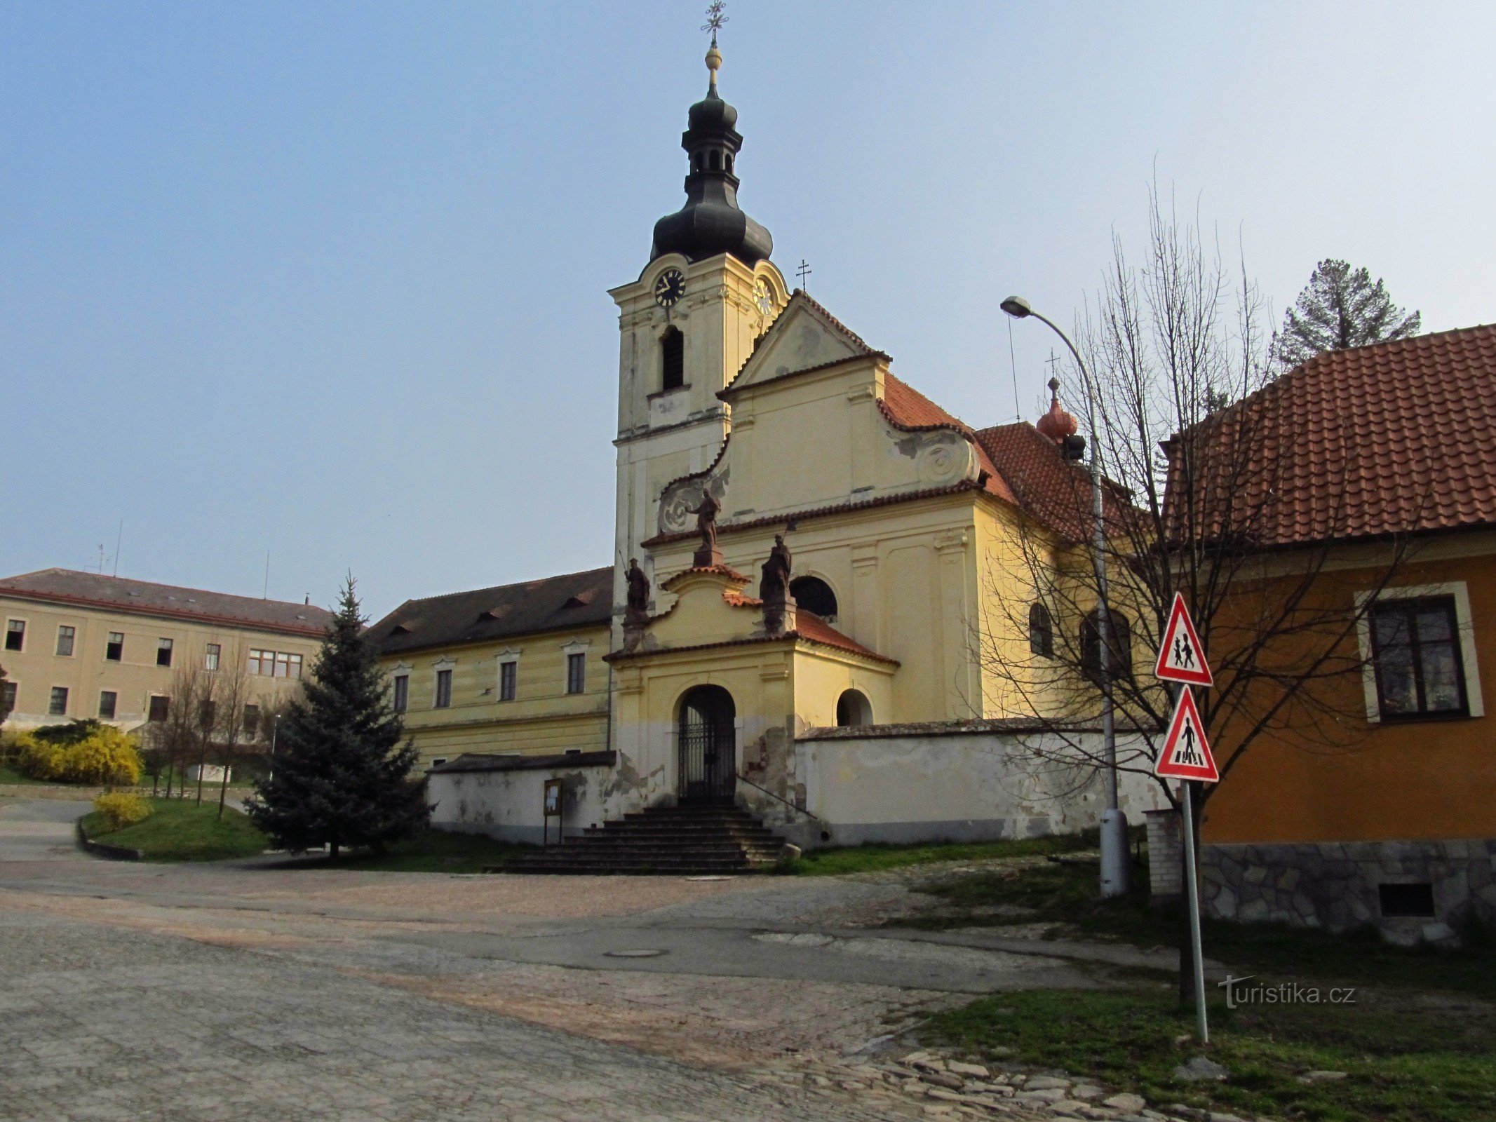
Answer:
[{"label": "tall grey curved street lamp post beside the bare tree", "polygon": [[1076,350],[1076,344],[1059,326],[1034,311],[1022,296],[1008,296],[1002,301],[1002,310],[1016,320],[1034,317],[1059,335],[1070,349],[1080,367],[1080,377],[1086,383],[1086,420],[1091,426],[1091,513],[1095,522],[1092,546],[1095,551],[1097,568],[1097,673],[1101,679],[1101,738],[1106,754],[1107,776],[1107,809],[1101,815],[1101,895],[1125,896],[1128,890],[1128,845],[1126,845],[1126,815],[1118,806],[1118,735],[1116,720],[1112,712],[1112,645],[1110,645],[1110,612],[1107,607],[1107,555],[1106,555],[1106,516],[1101,501],[1101,441],[1097,438],[1097,398],[1091,381],[1091,371],[1085,359]]}]

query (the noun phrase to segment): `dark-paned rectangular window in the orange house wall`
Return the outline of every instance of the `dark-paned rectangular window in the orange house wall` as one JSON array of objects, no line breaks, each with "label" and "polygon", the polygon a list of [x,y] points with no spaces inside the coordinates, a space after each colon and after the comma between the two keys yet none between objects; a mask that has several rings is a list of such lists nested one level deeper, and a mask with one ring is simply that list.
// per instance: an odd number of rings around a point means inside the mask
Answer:
[{"label": "dark-paned rectangular window in the orange house wall", "polygon": [[1384,721],[1468,712],[1453,595],[1378,600],[1370,633],[1376,705]]}]

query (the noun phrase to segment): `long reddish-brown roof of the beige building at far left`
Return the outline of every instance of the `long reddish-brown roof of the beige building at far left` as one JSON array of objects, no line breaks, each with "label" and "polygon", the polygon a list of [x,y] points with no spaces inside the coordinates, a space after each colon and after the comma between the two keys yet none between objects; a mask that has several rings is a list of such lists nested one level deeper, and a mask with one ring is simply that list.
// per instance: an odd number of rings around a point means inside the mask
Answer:
[{"label": "long reddish-brown roof of the beige building at far left", "polygon": [[3,577],[0,595],[6,594],[57,604],[304,636],[320,636],[332,619],[332,613],[325,607],[311,604],[157,585],[151,580],[81,573],[73,568],[39,568],[34,573]]}]

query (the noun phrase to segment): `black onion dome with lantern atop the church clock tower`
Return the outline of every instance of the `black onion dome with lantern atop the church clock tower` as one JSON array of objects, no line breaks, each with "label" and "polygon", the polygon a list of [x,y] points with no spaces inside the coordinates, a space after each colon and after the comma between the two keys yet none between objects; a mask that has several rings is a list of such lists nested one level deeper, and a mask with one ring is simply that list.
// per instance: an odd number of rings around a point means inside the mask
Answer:
[{"label": "black onion dome with lantern atop the church clock tower", "polygon": [[738,206],[738,177],[733,163],[744,145],[735,127],[738,111],[717,93],[717,70],[723,54],[706,52],[711,84],[706,97],[691,106],[690,127],[681,136],[681,147],[690,157],[691,171],[685,177],[685,206],[655,223],[649,260],[667,253],[682,253],[688,260],[730,253],[745,265],[764,260],[773,250],[769,230]]}]

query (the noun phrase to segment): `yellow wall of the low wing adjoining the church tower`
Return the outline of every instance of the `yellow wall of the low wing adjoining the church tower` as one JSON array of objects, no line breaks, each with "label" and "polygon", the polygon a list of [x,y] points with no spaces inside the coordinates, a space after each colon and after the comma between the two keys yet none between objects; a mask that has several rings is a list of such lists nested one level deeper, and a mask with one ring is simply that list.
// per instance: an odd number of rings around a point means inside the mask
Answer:
[{"label": "yellow wall of the low wing adjoining the church tower", "polygon": [[[586,690],[568,694],[567,654],[586,655]],[[428,764],[462,752],[546,755],[607,748],[607,627],[510,636],[386,655],[408,675],[405,732]],[[500,663],[518,661],[515,700],[500,700]],[[437,670],[452,670],[452,705],[435,706]]]}]

